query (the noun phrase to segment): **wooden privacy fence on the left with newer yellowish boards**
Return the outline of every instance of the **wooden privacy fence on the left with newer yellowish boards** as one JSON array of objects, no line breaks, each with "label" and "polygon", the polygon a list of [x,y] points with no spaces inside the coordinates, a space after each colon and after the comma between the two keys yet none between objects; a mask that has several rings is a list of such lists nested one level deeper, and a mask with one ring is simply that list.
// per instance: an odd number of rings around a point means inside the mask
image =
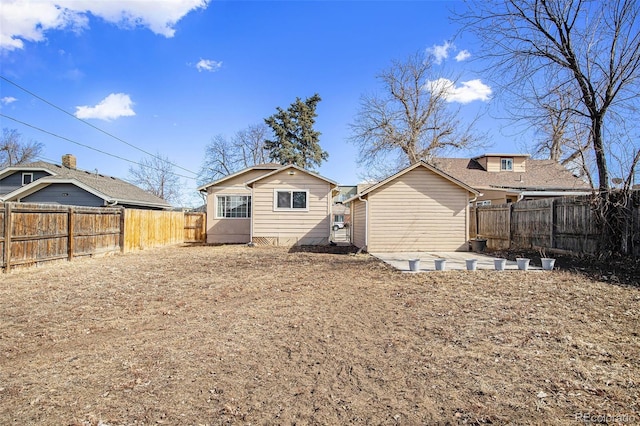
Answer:
[{"label": "wooden privacy fence on the left with newer yellowish boards", "polygon": [[205,213],[0,204],[0,266],[205,241]]}]

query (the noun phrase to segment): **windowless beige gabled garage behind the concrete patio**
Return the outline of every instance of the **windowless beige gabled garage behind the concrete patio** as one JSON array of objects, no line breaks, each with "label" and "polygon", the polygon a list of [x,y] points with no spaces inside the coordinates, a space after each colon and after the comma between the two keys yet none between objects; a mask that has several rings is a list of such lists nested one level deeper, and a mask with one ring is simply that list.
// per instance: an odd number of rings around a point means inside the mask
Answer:
[{"label": "windowless beige gabled garage behind the concrete patio", "polygon": [[419,161],[363,189],[351,203],[351,241],[368,252],[466,251],[478,191]]}]

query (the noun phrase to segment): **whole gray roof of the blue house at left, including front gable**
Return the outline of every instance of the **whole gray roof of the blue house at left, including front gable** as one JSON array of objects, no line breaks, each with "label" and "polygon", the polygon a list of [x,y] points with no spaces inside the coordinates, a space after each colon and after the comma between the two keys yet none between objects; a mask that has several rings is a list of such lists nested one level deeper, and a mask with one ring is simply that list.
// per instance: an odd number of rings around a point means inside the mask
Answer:
[{"label": "whole gray roof of the blue house at left, including front gable", "polygon": [[[44,170],[51,173],[51,176],[34,180],[31,184],[25,185],[23,188],[37,185],[39,181],[55,183],[56,181],[76,181],[81,185],[93,189],[96,195],[105,198],[105,201],[117,202],[118,204],[132,204],[158,208],[170,208],[171,204],[167,203],[160,197],[143,190],[129,182],[112,176],[105,176],[96,172],[89,172],[80,169],[72,169],[59,164],[48,163],[45,161],[35,161],[33,163],[20,164],[13,167],[7,167],[0,170],[0,177],[14,172]],[[85,189],[86,189],[85,188]],[[16,191],[13,191],[14,193]]]}]

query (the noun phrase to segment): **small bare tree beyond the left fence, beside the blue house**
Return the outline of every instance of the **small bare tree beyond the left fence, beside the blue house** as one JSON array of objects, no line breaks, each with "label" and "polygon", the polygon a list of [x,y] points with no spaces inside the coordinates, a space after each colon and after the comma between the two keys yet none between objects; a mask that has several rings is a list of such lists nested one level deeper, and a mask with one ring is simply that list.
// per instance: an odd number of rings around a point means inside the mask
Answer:
[{"label": "small bare tree beyond the left fence, beside the blue house", "polygon": [[129,182],[171,204],[180,204],[180,178],[168,157],[156,154],[129,168]]}]

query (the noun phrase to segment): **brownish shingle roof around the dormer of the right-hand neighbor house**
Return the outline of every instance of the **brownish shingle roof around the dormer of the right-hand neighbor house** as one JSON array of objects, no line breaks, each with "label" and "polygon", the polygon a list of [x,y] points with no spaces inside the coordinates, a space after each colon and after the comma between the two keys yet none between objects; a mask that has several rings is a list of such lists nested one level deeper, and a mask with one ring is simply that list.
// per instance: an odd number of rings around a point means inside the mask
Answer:
[{"label": "brownish shingle roof around the dormer of the right-hand neighbor house", "polygon": [[445,173],[477,189],[591,189],[587,182],[552,160],[528,158],[523,172],[488,172],[475,158],[435,158],[431,162]]}]

